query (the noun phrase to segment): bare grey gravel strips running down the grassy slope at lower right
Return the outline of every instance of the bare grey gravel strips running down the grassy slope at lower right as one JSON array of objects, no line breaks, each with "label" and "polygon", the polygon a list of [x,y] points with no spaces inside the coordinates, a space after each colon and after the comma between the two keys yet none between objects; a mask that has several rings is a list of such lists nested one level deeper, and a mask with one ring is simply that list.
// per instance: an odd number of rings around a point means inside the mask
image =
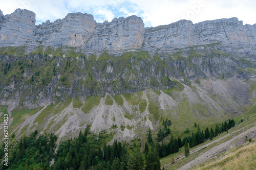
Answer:
[{"label": "bare grey gravel strips running down the grassy slope at lower right", "polygon": [[[198,152],[199,150],[207,147],[208,145],[211,145],[211,144],[214,144],[216,142],[219,142],[222,139],[230,136],[231,134],[238,133],[238,131],[243,131],[243,130],[244,130],[244,128],[239,129],[239,130],[234,131],[234,132],[232,132],[230,134],[227,134],[227,135],[225,135],[225,136],[223,136],[223,137],[221,137],[221,138],[219,138],[217,140],[214,140],[214,141],[212,141],[210,143],[204,144],[201,147],[191,151],[190,154]],[[219,155],[219,154],[221,154],[221,153],[223,153],[223,152],[225,152],[225,151],[227,151],[227,150],[229,150],[229,149],[231,149],[233,147],[238,147],[239,145],[243,145],[245,143],[245,136],[248,136],[248,138],[256,137],[256,126],[254,126],[254,127],[250,128],[250,129],[240,133],[236,137],[233,137],[233,138],[231,138],[231,139],[229,139],[229,140],[227,140],[227,141],[217,145],[216,147],[211,148],[210,150],[206,151],[205,153],[198,155],[198,157],[196,157],[194,160],[192,160],[192,161],[186,163],[185,165],[183,165],[182,167],[180,167],[179,170],[189,169],[189,168],[191,168],[191,167],[193,167],[193,166],[195,166],[195,165],[197,165],[199,163],[205,162],[206,160],[209,160],[212,157],[215,157],[215,156],[217,156],[217,155]]]}]

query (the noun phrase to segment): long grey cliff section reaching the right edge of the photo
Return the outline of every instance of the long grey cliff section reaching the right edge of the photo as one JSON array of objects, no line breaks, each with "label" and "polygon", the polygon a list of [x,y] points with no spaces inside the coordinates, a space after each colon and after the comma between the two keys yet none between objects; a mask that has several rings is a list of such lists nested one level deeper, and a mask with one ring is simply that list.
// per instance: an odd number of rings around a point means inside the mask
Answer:
[{"label": "long grey cliff section reaching the right edge of the photo", "polygon": [[197,46],[218,48],[227,54],[250,55],[256,52],[256,25],[243,25],[238,18],[217,19],[193,24],[180,20],[167,26],[146,28],[143,50],[180,51]]}]

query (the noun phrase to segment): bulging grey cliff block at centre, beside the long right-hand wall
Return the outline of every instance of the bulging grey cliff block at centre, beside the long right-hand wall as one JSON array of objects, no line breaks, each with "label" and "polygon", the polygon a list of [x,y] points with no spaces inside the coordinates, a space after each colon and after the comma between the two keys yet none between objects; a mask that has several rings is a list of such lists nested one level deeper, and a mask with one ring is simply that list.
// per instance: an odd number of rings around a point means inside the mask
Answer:
[{"label": "bulging grey cliff block at centre, beside the long right-hand wall", "polygon": [[144,23],[140,17],[114,18],[111,22],[98,23],[93,36],[82,48],[96,53],[140,50],[144,33]]}]

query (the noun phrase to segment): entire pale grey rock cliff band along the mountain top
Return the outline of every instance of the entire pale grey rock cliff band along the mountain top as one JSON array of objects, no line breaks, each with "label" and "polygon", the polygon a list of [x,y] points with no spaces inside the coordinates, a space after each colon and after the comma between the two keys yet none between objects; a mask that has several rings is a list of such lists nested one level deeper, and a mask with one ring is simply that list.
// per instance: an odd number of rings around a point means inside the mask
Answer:
[{"label": "entire pale grey rock cliff band along the mountain top", "polygon": [[28,52],[36,50],[39,45],[76,47],[77,51],[86,54],[100,54],[103,51],[115,54],[126,50],[172,54],[191,48],[215,48],[255,61],[256,25],[243,25],[238,18],[196,24],[180,20],[155,28],[144,28],[143,20],[137,16],[96,23],[92,15],[72,13],[52,23],[48,20],[35,26],[33,12],[17,9],[6,16],[1,12],[0,18],[0,47],[24,45]]}]

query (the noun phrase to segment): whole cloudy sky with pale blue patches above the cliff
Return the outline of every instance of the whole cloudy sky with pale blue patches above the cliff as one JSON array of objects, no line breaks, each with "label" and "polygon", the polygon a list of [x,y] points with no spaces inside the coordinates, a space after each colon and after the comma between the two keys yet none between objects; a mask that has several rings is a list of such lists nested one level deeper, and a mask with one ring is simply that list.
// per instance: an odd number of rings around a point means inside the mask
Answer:
[{"label": "whole cloudy sky with pale blue patches above the cliff", "polygon": [[238,17],[244,24],[256,23],[255,0],[0,0],[4,15],[17,8],[35,12],[36,25],[48,19],[51,22],[62,19],[72,12],[92,14],[97,22],[137,15],[145,27],[167,25],[180,19],[197,23],[231,17]]}]

